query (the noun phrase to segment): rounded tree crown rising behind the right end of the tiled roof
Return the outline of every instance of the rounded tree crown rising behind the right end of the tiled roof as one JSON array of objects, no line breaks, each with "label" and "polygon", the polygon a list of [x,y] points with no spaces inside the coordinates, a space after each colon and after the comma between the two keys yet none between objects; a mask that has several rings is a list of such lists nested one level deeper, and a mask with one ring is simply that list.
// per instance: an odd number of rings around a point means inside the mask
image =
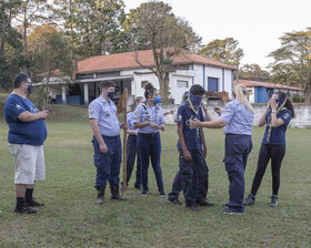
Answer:
[{"label": "rounded tree crown rising behind the right end of the tiled roof", "polygon": [[217,39],[209,42],[199,53],[227,64],[238,65],[244,56],[243,50],[238,45],[239,42],[233,38]]}]

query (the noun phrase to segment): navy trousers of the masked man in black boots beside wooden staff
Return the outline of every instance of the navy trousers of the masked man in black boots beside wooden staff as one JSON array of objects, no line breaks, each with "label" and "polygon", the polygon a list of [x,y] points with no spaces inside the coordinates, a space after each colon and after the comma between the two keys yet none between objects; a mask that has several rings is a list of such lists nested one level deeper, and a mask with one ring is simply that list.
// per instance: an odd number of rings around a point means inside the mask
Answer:
[{"label": "navy trousers of the masked man in black boots beside wooden staff", "polygon": [[94,166],[97,167],[96,187],[110,184],[119,184],[119,174],[122,157],[122,147],[120,135],[104,136],[102,138],[108,147],[108,153],[101,153],[99,143],[93,136]]}]

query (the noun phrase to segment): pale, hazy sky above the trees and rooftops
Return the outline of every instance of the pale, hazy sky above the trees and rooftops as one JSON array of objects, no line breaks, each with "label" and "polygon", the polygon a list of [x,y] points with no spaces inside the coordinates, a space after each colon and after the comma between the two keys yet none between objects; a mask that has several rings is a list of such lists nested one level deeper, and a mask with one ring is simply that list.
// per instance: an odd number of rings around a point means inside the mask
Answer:
[{"label": "pale, hazy sky above the trees and rooftops", "polygon": [[[123,0],[126,10],[146,0]],[[285,32],[311,27],[311,0],[163,0],[175,16],[190,22],[203,44],[232,37],[244,51],[241,65],[257,63],[267,70],[268,54]]]}]

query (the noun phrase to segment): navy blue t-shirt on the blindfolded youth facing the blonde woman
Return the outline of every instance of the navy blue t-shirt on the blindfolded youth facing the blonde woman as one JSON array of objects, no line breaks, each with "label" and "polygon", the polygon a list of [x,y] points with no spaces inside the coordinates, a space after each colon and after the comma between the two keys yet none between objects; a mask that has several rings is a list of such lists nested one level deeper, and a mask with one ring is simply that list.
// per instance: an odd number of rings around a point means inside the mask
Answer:
[{"label": "navy blue t-shirt on the blindfolded youth facing the blonde woman", "polygon": [[[182,124],[182,134],[188,149],[202,149],[202,140],[200,128],[190,127],[190,118],[198,118],[204,122],[202,108],[199,107],[198,114],[190,108],[188,101],[179,106],[177,112],[177,124]],[[177,143],[178,149],[181,149],[180,141]]]}]

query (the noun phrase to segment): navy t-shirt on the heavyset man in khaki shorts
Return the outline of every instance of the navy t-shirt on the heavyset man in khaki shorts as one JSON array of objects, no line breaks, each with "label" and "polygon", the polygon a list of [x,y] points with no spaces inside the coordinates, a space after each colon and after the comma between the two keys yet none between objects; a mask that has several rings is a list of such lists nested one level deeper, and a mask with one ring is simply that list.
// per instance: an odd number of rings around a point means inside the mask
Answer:
[{"label": "navy t-shirt on the heavyset man in khaki shorts", "polygon": [[8,142],[12,144],[43,145],[48,132],[44,120],[22,122],[18,116],[23,112],[38,113],[39,110],[17,94],[10,94],[4,104],[4,117],[9,125]]}]

